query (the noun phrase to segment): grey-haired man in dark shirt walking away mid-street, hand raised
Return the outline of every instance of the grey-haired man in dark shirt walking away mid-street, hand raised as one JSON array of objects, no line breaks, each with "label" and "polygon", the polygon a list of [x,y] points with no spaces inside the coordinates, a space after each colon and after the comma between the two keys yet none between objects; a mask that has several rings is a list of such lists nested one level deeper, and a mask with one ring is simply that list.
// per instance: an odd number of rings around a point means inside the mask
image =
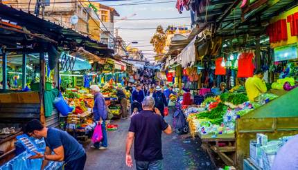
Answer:
[{"label": "grey-haired man in dark shirt walking away mid-street, hand raised", "polygon": [[154,113],[155,100],[145,97],[142,102],[143,111],[132,116],[128,138],[126,140],[126,165],[132,167],[130,149],[134,142],[134,159],[137,170],[162,169],[161,133],[170,135],[172,129],[161,117]]}]

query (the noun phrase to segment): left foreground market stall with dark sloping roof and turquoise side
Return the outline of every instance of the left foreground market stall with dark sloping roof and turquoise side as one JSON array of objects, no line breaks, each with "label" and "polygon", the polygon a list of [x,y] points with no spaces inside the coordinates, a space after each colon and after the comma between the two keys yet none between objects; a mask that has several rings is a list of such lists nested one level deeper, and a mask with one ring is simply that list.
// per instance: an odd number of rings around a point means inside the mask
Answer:
[{"label": "left foreground market stall with dark sloping roof and turquoise side", "polygon": [[[60,58],[60,53],[71,53],[81,46],[107,56],[112,52],[75,30],[2,3],[0,8],[0,162],[3,164],[15,157],[15,136],[21,134],[26,122],[38,119],[45,126],[59,126],[59,113],[53,104],[60,93],[59,68],[69,69],[79,58],[67,55]],[[94,50],[95,46],[102,50]],[[16,159],[19,161],[21,157]]]}]

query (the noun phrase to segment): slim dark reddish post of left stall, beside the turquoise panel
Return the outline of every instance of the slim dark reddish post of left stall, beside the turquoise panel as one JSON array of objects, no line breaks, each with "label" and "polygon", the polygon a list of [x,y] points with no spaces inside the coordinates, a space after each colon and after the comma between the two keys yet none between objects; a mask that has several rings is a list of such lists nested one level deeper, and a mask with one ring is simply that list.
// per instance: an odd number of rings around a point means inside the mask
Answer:
[{"label": "slim dark reddish post of left stall, beside the turquoise panel", "polygon": [[46,124],[46,118],[44,117],[44,89],[46,85],[46,62],[44,59],[44,51],[40,52],[40,122]]}]

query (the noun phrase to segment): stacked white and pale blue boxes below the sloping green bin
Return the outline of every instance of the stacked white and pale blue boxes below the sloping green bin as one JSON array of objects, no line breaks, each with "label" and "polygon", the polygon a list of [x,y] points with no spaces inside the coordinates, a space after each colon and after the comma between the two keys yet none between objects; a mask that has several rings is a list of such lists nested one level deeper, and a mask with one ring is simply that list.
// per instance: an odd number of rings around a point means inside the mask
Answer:
[{"label": "stacked white and pale blue boxes below the sloping green bin", "polygon": [[283,144],[285,144],[291,137],[282,137],[279,140],[268,141],[268,136],[257,133],[256,140],[251,140],[249,143],[250,160],[263,170],[270,170],[277,151]]}]

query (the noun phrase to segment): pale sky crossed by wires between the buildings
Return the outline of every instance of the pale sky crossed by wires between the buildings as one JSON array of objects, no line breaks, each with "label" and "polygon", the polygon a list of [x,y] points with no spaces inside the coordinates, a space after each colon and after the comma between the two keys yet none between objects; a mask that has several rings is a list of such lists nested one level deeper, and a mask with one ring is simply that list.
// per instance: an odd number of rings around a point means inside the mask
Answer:
[{"label": "pale sky crossed by wires between the buildings", "polygon": [[[138,44],[132,44],[132,46],[145,46],[138,47],[139,50],[143,50],[146,58],[152,60],[155,52],[150,44],[150,39],[155,33],[155,29],[148,30],[127,30],[121,28],[157,28],[158,25],[167,28],[168,26],[189,26],[191,23],[190,12],[184,10],[182,14],[179,14],[176,6],[176,1],[170,3],[155,3],[155,2],[168,2],[171,0],[131,0],[131,1],[111,1],[100,2],[105,6],[111,6],[119,12],[120,17],[115,19],[121,19],[123,17],[130,17],[136,14],[134,17],[128,19],[148,19],[148,18],[175,18],[175,19],[159,19],[159,20],[145,20],[145,21],[116,21],[114,27],[119,28],[119,35],[123,38],[126,44],[130,44],[132,41],[137,41]],[[123,3],[155,3],[155,4],[141,4],[141,5],[129,5],[129,6],[113,6]],[[177,19],[179,17],[189,17]],[[150,55],[149,55],[150,54]]]}]

